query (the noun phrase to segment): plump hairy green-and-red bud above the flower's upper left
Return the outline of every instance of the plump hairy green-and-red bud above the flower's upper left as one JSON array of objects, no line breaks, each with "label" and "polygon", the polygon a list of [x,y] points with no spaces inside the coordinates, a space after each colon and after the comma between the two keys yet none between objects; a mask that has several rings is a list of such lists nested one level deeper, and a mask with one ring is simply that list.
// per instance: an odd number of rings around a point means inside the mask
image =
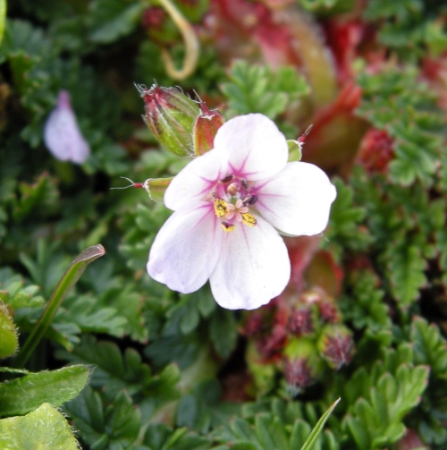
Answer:
[{"label": "plump hairy green-and-red bud above the flower's upper left", "polygon": [[200,111],[196,102],[176,88],[138,87],[145,103],[145,123],[156,140],[175,155],[194,155],[192,131]]}]

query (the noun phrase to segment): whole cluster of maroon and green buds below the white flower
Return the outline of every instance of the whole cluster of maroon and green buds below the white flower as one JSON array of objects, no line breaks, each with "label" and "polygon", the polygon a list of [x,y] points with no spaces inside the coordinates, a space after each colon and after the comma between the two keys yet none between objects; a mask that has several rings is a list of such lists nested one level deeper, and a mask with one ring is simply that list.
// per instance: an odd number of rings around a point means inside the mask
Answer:
[{"label": "whole cluster of maroon and green buds below the white flower", "polygon": [[325,370],[341,369],[354,352],[352,334],[335,301],[317,288],[250,313],[242,332],[249,339],[249,369],[257,392],[273,388],[278,373],[298,392],[315,384]]}]

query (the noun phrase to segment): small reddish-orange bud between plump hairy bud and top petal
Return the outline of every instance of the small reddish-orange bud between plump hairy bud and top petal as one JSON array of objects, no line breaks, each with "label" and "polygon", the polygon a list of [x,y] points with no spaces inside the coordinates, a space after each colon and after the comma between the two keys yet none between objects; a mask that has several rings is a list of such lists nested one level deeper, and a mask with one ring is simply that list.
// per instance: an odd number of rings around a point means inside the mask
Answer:
[{"label": "small reddish-orange bud between plump hairy bud and top petal", "polygon": [[194,123],[194,151],[196,155],[203,155],[214,149],[215,133],[223,125],[223,122],[223,115],[219,111],[210,111],[204,102],[200,104],[200,115]]}]

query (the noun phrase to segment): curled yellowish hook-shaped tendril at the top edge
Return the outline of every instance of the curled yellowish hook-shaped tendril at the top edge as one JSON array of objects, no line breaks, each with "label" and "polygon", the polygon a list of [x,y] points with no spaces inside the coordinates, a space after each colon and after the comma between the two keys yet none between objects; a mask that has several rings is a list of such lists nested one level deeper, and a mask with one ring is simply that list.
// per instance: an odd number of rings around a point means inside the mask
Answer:
[{"label": "curled yellowish hook-shaped tendril at the top edge", "polygon": [[184,80],[189,77],[196,69],[198,62],[199,44],[196,33],[192,29],[190,22],[187,21],[179,10],[171,3],[171,0],[158,0],[177,25],[185,43],[185,57],[181,69],[176,69],[173,65],[173,58],[169,52],[162,48],[162,58],[167,74],[173,80]]}]

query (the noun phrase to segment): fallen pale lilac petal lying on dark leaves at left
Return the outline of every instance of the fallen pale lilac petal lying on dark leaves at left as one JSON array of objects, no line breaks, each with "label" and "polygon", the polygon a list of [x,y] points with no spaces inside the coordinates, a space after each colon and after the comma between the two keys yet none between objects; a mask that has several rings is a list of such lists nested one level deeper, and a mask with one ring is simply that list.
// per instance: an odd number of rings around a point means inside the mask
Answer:
[{"label": "fallen pale lilac petal lying on dark leaves at left", "polygon": [[89,143],[80,132],[65,90],[59,93],[57,106],[46,120],[44,141],[46,148],[61,161],[82,164],[90,155]]}]

